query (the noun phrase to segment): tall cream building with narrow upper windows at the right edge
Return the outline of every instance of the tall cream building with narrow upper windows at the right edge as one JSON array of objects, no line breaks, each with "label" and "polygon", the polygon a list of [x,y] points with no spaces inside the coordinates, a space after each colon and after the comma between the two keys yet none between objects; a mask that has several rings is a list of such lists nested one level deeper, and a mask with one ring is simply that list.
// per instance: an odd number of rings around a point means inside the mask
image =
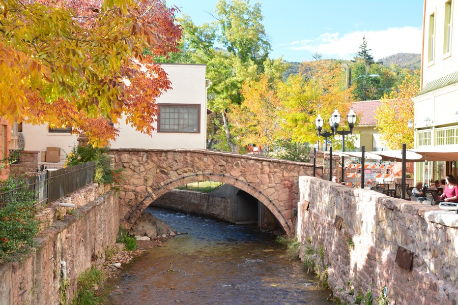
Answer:
[{"label": "tall cream building with narrow upper windows at the right edge", "polygon": [[[456,9],[454,0],[424,1],[421,91],[413,101],[414,150],[428,159],[416,163],[415,179],[425,182],[441,179],[449,173],[456,176],[455,157],[445,155],[447,151],[458,152]],[[441,152],[444,156],[428,158],[428,152]]]}]

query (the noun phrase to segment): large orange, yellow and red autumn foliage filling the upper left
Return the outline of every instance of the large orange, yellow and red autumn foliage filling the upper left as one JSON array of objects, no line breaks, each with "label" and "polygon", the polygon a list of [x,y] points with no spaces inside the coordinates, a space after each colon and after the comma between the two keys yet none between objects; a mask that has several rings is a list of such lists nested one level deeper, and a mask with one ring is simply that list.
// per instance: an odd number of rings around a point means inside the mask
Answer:
[{"label": "large orange, yellow and red autumn foliage filling the upper left", "polygon": [[151,134],[155,99],[170,88],[159,56],[178,50],[175,9],[160,0],[0,2],[0,115],[72,126],[92,143],[122,117]]}]

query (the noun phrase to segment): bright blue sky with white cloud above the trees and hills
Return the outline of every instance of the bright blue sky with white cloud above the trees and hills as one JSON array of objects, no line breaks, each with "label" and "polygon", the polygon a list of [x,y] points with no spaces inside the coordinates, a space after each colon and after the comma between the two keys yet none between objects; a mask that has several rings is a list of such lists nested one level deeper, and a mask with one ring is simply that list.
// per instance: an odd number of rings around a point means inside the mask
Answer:
[{"label": "bright blue sky with white cloud above the trees and hills", "polygon": [[[421,0],[265,0],[264,26],[272,45],[271,58],[289,62],[323,58],[351,59],[363,35],[374,58],[421,52]],[[217,0],[167,0],[195,24],[214,21]],[[256,3],[250,1],[250,4]],[[180,15],[180,14],[179,14]]]}]

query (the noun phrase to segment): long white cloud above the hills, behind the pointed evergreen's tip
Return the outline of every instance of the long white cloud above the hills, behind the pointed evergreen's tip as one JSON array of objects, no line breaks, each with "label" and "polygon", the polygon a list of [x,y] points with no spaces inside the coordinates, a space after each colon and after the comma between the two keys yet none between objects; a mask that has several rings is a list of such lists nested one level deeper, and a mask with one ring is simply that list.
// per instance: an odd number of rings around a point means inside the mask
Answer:
[{"label": "long white cloud above the hills, behind the pointed evergreen's tip", "polygon": [[356,31],[340,35],[325,33],[318,38],[291,43],[291,50],[322,53],[323,58],[352,59],[359,50],[362,37],[367,40],[374,59],[397,53],[421,53],[421,27],[390,27],[382,31]]}]

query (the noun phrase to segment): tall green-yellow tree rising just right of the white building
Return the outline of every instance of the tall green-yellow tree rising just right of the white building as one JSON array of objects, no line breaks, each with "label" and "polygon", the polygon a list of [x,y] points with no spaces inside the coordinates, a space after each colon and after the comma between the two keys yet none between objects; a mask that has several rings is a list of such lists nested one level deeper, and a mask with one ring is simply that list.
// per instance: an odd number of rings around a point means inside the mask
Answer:
[{"label": "tall green-yellow tree rising just right of the white building", "polygon": [[224,140],[219,149],[239,149],[228,116],[244,100],[242,84],[259,80],[262,73],[281,79],[286,69],[281,59],[268,58],[271,46],[262,21],[261,4],[250,5],[248,0],[219,0],[212,23],[197,26],[189,17],[181,20],[192,62],[206,64],[207,78],[212,81],[208,104],[218,124],[209,126],[218,128],[211,133],[214,138]]}]

